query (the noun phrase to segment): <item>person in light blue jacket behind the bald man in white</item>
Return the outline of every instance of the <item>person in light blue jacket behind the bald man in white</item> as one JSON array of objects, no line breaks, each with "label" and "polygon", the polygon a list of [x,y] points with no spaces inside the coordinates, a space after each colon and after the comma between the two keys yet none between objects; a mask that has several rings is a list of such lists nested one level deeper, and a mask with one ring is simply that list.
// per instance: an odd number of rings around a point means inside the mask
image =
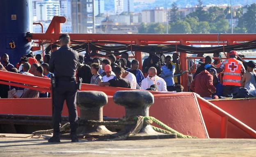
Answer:
[{"label": "person in light blue jacket behind the bald man in white", "polygon": [[166,64],[162,66],[161,77],[167,84],[167,91],[176,91],[174,82],[175,65],[171,64],[171,56],[165,57]]}]

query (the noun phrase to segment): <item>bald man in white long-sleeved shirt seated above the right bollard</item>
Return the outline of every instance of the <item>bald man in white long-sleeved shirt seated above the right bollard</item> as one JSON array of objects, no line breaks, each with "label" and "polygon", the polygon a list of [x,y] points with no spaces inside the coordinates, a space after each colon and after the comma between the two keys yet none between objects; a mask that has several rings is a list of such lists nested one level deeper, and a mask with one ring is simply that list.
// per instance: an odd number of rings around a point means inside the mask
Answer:
[{"label": "bald man in white long-sleeved shirt seated above the right bollard", "polygon": [[158,86],[158,91],[167,91],[166,82],[161,77],[157,76],[157,70],[155,67],[149,68],[148,71],[149,75],[142,80],[141,89],[146,90],[147,88],[150,88],[152,84],[155,84]]}]

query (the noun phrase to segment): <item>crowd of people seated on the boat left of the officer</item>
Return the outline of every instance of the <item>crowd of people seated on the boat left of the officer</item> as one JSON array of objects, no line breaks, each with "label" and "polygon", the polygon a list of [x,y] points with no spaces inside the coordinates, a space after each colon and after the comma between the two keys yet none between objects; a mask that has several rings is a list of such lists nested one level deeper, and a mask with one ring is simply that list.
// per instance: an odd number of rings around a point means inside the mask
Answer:
[{"label": "crowd of people seated on the boat left of the officer", "polygon": [[[44,61],[41,60],[41,55],[32,54],[23,55],[20,62],[15,66],[9,62],[9,55],[3,54],[0,57],[0,70],[13,73],[21,73],[23,75],[37,76],[50,79],[49,62],[50,55],[44,56]],[[25,85],[25,84],[23,84]],[[1,98],[28,98],[28,97],[50,97],[50,93],[45,91],[31,90],[17,86],[9,86],[0,84]]]}]

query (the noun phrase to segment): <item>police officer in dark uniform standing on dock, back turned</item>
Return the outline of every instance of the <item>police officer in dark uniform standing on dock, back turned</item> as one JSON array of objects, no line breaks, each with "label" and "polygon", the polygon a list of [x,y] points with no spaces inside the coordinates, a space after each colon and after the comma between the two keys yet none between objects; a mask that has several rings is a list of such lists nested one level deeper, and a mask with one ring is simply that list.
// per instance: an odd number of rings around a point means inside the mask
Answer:
[{"label": "police officer in dark uniform standing on dock, back turned", "polygon": [[78,142],[78,114],[76,109],[77,84],[75,73],[78,69],[78,52],[69,47],[70,37],[63,34],[59,37],[60,48],[54,51],[49,62],[50,72],[55,74],[56,86],[53,88],[53,137],[48,142],[60,142],[59,126],[64,100],[69,109],[71,142]]}]

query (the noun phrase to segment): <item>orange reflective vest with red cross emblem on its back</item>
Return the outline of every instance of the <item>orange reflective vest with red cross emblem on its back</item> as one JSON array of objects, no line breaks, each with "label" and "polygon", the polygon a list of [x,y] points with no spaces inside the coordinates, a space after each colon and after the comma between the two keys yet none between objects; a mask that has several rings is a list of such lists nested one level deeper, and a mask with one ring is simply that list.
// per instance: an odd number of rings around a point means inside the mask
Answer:
[{"label": "orange reflective vest with red cross emblem on its back", "polygon": [[223,75],[223,85],[241,86],[242,62],[235,58],[229,58],[223,62],[225,65]]}]

